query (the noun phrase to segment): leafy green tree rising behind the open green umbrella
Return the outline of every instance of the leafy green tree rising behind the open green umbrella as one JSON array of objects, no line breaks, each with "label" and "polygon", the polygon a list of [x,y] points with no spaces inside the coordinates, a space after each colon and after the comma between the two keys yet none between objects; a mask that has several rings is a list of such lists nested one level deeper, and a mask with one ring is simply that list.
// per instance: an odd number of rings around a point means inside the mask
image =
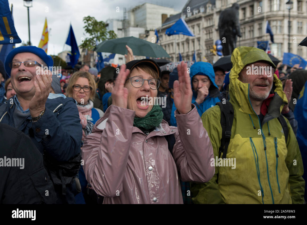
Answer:
[{"label": "leafy green tree rising behind the open green umbrella", "polygon": [[107,23],[103,21],[97,21],[95,17],[84,17],[83,18],[85,26],[85,32],[89,34],[90,37],[84,39],[84,42],[80,45],[83,49],[93,50],[96,46],[96,40],[98,43],[117,38],[114,31],[107,31]]}]

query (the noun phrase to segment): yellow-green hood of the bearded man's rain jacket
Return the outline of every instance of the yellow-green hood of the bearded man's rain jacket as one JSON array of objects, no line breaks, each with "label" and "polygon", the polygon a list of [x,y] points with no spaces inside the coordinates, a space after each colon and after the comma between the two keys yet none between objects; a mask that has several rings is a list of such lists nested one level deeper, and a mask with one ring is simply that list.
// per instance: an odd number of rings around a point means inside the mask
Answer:
[{"label": "yellow-green hood of the bearded man's rain jacket", "polygon": [[[255,114],[249,100],[249,84],[239,81],[239,73],[247,64],[265,60],[276,66],[265,51],[255,47],[237,47],[231,54],[232,68],[229,74],[230,102],[239,106],[239,110],[248,114]],[[270,93],[275,93],[268,107],[268,114],[274,118],[281,114],[282,108],[288,103],[286,94],[283,92],[282,82],[274,74],[273,87]]]}]

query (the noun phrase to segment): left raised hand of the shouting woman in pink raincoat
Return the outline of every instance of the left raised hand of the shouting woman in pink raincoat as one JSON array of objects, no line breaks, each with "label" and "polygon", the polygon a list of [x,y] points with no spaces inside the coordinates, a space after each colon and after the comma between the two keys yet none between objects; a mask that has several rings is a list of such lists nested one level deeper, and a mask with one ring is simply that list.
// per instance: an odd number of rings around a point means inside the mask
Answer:
[{"label": "left raised hand of the shouting woman in pink raincoat", "polygon": [[112,90],[112,105],[127,108],[128,106],[128,89],[125,88],[126,79],[129,76],[129,69],[123,64],[120,67],[119,75],[116,78],[114,88]]}]

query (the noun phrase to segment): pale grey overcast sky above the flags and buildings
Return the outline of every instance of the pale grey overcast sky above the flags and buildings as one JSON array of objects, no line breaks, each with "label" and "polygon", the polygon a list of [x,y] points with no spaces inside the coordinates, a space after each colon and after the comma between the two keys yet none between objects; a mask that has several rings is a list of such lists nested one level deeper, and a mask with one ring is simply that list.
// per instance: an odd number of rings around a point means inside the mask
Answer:
[{"label": "pale grey overcast sky above the flags and buildings", "polygon": [[[18,36],[25,43],[29,40],[28,35],[28,13],[23,6],[22,0],[8,0],[10,7],[13,4],[14,25]],[[181,11],[188,0],[33,0],[33,7],[30,8],[30,38],[31,44],[38,46],[41,39],[45,17],[47,17],[49,42],[48,54],[58,54],[64,50],[70,50],[65,45],[69,24],[71,22],[78,45],[81,37],[86,37],[84,33],[83,17],[95,17],[98,21],[107,19],[122,19],[123,8],[127,11],[145,2],[161,6],[171,7]],[[119,6],[120,12],[116,13]],[[46,8],[48,7],[48,8]],[[127,15],[128,16],[128,15]],[[154,18],[153,18],[154,19]],[[16,47],[20,44],[16,44]]]}]

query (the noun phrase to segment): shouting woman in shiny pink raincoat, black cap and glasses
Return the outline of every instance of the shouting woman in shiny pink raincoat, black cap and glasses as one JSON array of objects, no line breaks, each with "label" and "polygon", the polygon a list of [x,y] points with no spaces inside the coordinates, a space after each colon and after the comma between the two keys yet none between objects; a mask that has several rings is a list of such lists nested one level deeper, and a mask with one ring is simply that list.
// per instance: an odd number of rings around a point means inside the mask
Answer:
[{"label": "shouting woman in shiny pink raincoat, black cap and glasses", "polygon": [[[177,127],[173,127],[151,101],[160,84],[157,63],[141,59],[121,66],[112,105],[82,148],[87,181],[104,196],[104,204],[182,204],[180,179],[208,182],[213,177],[212,144],[191,104],[187,64],[182,62],[177,69],[179,81],[173,85]],[[172,152],[167,141],[171,136]]]}]

